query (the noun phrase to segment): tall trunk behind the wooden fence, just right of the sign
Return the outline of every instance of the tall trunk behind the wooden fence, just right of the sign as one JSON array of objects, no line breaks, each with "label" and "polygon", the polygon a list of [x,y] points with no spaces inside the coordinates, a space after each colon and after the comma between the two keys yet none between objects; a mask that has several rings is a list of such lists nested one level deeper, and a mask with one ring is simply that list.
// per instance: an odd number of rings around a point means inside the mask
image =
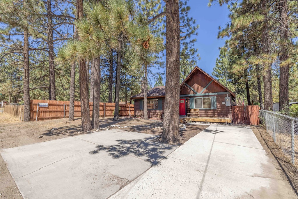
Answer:
[{"label": "tall trunk behind the wooden fence, just right of the sign", "polygon": [[[46,1],[47,14],[52,14],[51,0]],[[48,16],[48,48],[49,48],[49,100],[56,100],[56,82],[55,82],[55,63],[54,63],[54,41],[53,41],[53,22],[52,17]]]}]

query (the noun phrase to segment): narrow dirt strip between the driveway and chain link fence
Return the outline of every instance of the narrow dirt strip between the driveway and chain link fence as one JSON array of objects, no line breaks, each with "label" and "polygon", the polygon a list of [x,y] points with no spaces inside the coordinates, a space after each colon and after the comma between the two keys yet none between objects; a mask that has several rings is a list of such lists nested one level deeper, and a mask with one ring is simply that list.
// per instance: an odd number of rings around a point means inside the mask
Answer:
[{"label": "narrow dirt strip between the driveway and chain link fence", "polygon": [[283,154],[281,148],[274,143],[273,138],[266,132],[263,127],[250,126],[254,135],[263,146],[267,155],[271,158],[276,169],[281,170],[283,179],[288,181],[292,189],[298,196],[298,171],[291,161]]}]

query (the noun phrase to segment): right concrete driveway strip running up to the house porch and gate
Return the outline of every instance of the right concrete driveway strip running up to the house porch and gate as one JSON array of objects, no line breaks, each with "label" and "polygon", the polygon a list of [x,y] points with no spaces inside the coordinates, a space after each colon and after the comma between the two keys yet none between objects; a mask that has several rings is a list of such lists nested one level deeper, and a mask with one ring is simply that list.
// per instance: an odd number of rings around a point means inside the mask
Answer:
[{"label": "right concrete driveway strip running up to the house porch and gate", "polygon": [[250,127],[212,124],[111,198],[297,198]]}]

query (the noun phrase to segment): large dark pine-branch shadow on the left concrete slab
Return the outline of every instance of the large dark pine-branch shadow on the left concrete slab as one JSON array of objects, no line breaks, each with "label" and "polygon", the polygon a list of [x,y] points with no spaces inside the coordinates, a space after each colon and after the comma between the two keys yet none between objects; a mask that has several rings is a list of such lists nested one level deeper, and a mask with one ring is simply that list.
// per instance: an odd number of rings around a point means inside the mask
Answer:
[{"label": "large dark pine-branch shadow on the left concrete slab", "polygon": [[169,152],[169,150],[179,146],[157,141],[159,137],[160,136],[144,139],[116,140],[118,144],[109,146],[97,145],[96,149],[89,153],[97,154],[100,151],[106,151],[114,159],[131,155],[143,159],[154,166],[158,165],[163,158],[166,158],[164,156],[165,152]]}]

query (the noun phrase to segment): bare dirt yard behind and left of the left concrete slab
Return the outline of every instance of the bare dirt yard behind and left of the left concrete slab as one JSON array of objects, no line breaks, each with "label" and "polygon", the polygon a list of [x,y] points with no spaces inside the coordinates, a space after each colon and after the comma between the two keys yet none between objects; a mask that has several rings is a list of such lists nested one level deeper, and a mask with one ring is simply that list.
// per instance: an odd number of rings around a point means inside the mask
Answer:
[{"label": "bare dirt yard behind and left of the left concrete slab", "polygon": [[[100,118],[100,129],[93,129],[91,133],[106,129],[123,129],[140,133],[161,135],[162,121],[144,121],[143,119],[119,117],[112,121],[112,117]],[[119,125],[110,127],[110,125]],[[181,144],[197,135],[208,125],[186,124],[186,129],[180,125]],[[0,113],[0,149],[12,148],[27,144],[34,144],[49,140],[79,135],[81,132],[81,119],[76,118],[68,123],[68,118],[45,120],[38,122],[23,122],[8,114]],[[42,138],[38,138],[43,136]],[[0,198],[22,198],[15,181],[11,177],[7,166],[0,156]]]}]

